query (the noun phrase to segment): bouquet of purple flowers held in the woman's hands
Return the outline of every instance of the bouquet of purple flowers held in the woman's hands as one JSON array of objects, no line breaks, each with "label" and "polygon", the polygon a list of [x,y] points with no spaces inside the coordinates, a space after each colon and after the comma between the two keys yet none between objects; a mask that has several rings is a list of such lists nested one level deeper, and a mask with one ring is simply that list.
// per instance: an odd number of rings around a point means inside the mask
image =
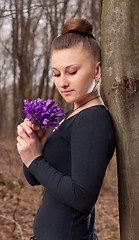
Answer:
[{"label": "bouquet of purple flowers held in the woman's hands", "polygon": [[65,116],[62,113],[62,108],[59,107],[59,103],[53,106],[54,104],[55,101],[52,98],[48,98],[44,102],[40,98],[31,102],[25,99],[22,111],[26,114],[28,121],[36,125],[42,125],[45,130],[46,126],[58,127],[57,117]]}]

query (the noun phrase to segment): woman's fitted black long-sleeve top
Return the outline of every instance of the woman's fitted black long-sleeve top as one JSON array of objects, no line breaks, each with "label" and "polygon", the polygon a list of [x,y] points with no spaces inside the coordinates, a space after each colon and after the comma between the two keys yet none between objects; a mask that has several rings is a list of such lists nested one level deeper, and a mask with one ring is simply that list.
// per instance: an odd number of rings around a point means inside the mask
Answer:
[{"label": "woman's fitted black long-sleeve top", "polygon": [[49,134],[42,156],[24,174],[44,186],[34,220],[38,240],[91,240],[97,201],[115,137],[103,105],[86,108]]}]

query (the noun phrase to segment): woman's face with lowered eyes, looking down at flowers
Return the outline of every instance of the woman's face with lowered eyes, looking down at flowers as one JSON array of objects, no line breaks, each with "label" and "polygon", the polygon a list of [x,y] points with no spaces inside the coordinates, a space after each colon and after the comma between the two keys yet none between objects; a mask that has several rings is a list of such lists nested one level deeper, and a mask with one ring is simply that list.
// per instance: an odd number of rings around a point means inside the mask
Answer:
[{"label": "woman's face with lowered eyes, looking down at flowers", "polygon": [[54,50],[51,56],[53,80],[59,93],[68,103],[80,106],[92,96],[98,65],[82,44]]}]

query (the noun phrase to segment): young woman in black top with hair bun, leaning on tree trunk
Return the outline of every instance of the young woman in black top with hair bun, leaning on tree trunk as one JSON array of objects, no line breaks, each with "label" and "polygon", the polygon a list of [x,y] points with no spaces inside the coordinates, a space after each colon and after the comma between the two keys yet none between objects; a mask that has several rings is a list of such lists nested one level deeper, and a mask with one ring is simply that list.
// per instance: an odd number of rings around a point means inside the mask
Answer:
[{"label": "young woman in black top with hair bun, leaning on tree trunk", "polygon": [[52,43],[54,83],[74,109],[48,136],[28,121],[17,129],[25,177],[31,185],[44,186],[30,239],[97,239],[95,203],[115,138],[99,95],[100,47],[92,30],[87,20],[71,19]]}]

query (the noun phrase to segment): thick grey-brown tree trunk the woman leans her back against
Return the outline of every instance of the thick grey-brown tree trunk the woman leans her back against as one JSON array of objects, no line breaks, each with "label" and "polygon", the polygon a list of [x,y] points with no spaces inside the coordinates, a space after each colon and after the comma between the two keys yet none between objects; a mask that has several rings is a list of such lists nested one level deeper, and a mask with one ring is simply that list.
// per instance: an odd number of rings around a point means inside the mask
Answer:
[{"label": "thick grey-brown tree trunk the woman leans her back against", "polygon": [[139,236],[139,1],[104,0],[102,85],[117,141],[120,232]]}]

